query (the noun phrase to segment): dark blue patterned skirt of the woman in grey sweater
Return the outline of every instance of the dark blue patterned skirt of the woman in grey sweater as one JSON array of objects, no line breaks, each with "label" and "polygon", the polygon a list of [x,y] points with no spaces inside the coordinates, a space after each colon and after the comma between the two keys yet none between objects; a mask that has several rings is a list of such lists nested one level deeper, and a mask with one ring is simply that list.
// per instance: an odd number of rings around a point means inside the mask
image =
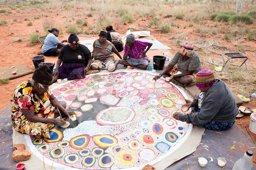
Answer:
[{"label": "dark blue patterned skirt of the woman in grey sweater", "polygon": [[[194,109],[194,113],[199,113],[200,111],[201,109],[196,106]],[[199,124],[198,126],[205,127],[206,129],[209,129],[209,130],[221,131],[221,130],[228,130],[231,126],[233,126],[234,123],[235,121],[229,122],[229,123],[222,123],[222,122],[217,122],[215,120],[210,120],[209,122]]]}]

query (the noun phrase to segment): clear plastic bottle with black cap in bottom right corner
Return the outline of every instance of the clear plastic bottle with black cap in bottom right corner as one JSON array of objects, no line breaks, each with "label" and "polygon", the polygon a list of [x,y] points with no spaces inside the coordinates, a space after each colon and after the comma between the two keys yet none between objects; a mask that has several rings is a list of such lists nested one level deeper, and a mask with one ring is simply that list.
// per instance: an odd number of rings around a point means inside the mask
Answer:
[{"label": "clear plastic bottle with black cap in bottom right corner", "polygon": [[247,150],[246,153],[244,153],[244,156],[235,162],[232,170],[251,170],[253,166],[252,155],[253,152],[251,150]]}]

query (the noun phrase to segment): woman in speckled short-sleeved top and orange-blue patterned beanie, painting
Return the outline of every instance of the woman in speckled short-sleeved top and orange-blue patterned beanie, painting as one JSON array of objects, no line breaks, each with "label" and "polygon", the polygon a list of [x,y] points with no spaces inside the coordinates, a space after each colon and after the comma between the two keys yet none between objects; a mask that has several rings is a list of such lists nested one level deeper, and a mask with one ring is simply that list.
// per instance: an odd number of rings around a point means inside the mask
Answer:
[{"label": "woman in speckled short-sleeved top and orange-blue patterned beanie, painting", "polygon": [[[194,75],[200,70],[202,70],[202,66],[199,55],[194,51],[194,47],[191,43],[184,42],[181,50],[176,52],[167,67],[163,69],[161,74],[155,76],[153,79],[157,80],[166,74],[170,76],[170,78],[166,78],[166,82],[175,79],[186,86],[193,82]],[[177,74],[178,71],[180,71],[181,74]]]}]

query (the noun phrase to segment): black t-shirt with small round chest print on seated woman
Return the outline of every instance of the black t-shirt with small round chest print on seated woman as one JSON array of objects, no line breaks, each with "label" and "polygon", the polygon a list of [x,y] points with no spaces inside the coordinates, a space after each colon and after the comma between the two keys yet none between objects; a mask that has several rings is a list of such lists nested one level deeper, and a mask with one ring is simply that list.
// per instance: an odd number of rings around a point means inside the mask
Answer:
[{"label": "black t-shirt with small round chest print on seated woman", "polygon": [[91,59],[91,52],[82,44],[79,44],[76,50],[65,45],[60,51],[59,59],[63,60],[62,64],[87,64],[87,61]]}]

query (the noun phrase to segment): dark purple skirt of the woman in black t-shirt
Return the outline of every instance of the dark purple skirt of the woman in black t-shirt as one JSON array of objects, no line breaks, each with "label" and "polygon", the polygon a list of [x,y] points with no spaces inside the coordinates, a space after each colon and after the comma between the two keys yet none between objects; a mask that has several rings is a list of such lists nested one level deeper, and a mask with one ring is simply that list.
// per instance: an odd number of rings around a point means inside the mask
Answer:
[{"label": "dark purple skirt of the woman in black t-shirt", "polygon": [[64,64],[59,68],[59,75],[68,80],[83,79],[85,64]]}]

